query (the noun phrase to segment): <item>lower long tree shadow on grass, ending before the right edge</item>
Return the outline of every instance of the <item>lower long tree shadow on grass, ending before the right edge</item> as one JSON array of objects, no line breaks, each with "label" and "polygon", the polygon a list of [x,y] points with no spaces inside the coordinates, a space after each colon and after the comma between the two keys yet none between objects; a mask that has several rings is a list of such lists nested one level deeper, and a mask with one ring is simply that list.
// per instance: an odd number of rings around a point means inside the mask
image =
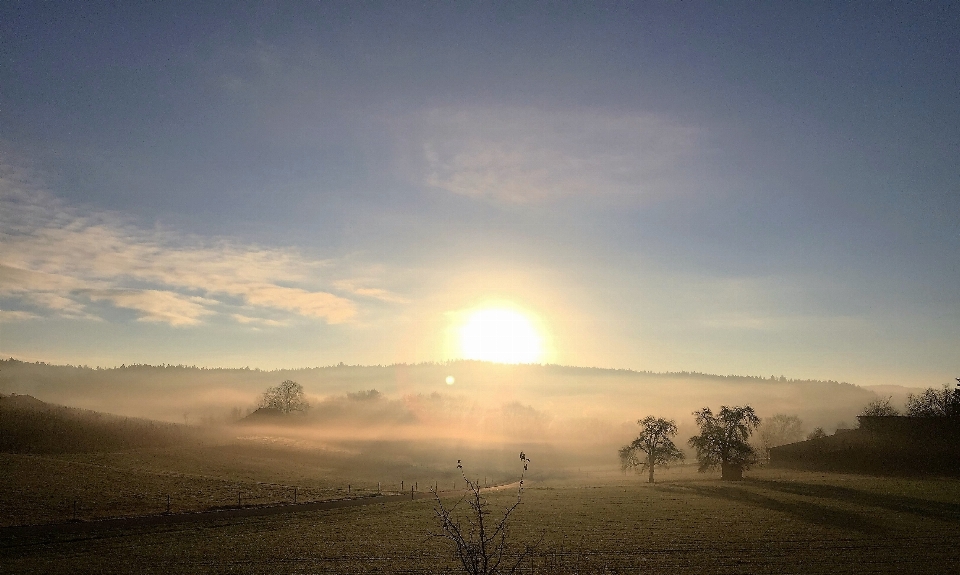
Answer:
[{"label": "lower long tree shadow on grass, ending before the right edge", "polygon": [[658,486],[656,489],[674,494],[692,492],[702,497],[744,503],[771,511],[779,511],[808,523],[853,530],[864,534],[875,535],[884,530],[880,523],[851,511],[808,501],[775,499],[739,486],[684,485],[683,487]]}]

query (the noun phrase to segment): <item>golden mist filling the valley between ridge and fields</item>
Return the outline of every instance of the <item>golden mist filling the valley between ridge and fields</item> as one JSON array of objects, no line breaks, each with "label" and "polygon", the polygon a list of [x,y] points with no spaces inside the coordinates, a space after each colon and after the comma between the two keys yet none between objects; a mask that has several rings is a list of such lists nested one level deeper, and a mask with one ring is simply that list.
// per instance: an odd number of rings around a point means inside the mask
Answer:
[{"label": "golden mist filling the valley between ridge and fields", "polygon": [[[279,418],[251,415],[262,393],[284,380],[303,386],[310,408]],[[636,435],[635,422],[646,415],[675,419],[681,438],[696,432],[694,410],[721,405],[751,405],[761,417],[797,415],[807,431],[832,432],[854,427],[856,415],[878,397],[835,381],[479,361],[260,371],[8,360],[0,365],[0,391],[168,422],[239,423],[231,432],[237,437],[287,438],[305,448],[384,440],[453,450],[540,446],[593,463],[615,462],[616,448]]]}]

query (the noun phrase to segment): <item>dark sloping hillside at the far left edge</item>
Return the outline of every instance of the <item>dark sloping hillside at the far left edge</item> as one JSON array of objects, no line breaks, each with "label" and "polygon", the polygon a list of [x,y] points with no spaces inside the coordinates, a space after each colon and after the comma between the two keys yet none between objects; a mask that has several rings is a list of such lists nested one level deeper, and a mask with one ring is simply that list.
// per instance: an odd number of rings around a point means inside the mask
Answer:
[{"label": "dark sloping hillside at the far left edge", "polygon": [[0,452],[4,453],[163,447],[190,436],[182,425],[51,405],[29,395],[0,395]]}]

